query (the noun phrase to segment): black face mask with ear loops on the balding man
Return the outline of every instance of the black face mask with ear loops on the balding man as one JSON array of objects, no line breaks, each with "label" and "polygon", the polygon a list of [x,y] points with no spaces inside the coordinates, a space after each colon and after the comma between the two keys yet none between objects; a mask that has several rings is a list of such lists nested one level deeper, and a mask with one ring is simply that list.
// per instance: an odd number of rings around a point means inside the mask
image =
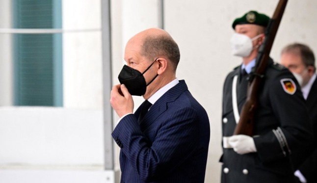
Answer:
[{"label": "black face mask with ear loops on the balding man", "polygon": [[[157,59],[155,59],[157,61]],[[154,62],[155,62],[154,61]],[[151,82],[157,78],[157,74],[148,84],[145,82],[143,74],[150,69],[154,62],[143,72],[141,73],[138,70],[133,69],[127,65],[124,65],[118,79],[121,84],[124,84],[131,95],[142,96],[146,92],[146,87],[151,84]]]}]

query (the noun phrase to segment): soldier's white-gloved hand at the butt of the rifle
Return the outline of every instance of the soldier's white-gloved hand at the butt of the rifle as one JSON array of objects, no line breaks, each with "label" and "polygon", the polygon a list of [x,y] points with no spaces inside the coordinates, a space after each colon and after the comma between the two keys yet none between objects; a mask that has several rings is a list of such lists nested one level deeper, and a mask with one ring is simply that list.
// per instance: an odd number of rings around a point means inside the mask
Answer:
[{"label": "soldier's white-gloved hand at the butt of the rifle", "polygon": [[257,152],[253,138],[247,135],[233,135],[229,137],[229,144],[240,155]]}]

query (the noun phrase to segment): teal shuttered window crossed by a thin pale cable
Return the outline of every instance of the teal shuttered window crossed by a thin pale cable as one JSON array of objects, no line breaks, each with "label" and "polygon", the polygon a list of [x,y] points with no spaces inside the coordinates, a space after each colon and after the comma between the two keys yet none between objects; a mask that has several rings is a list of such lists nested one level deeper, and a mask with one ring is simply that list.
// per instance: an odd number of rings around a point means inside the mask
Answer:
[{"label": "teal shuttered window crossed by a thin pale cable", "polygon": [[[14,28],[61,28],[61,0],[14,0]],[[62,106],[62,34],[14,35],[14,104]]]}]

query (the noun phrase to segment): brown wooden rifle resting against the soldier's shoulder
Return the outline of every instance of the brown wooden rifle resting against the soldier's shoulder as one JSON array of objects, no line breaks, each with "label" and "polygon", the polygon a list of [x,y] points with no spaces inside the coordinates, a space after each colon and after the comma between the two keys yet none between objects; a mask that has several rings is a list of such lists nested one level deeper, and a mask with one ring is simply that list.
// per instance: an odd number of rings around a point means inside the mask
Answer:
[{"label": "brown wooden rifle resting against the soldier's shoulder", "polygon": [[253,68],[250,77],[248,78],[247,99],[242,106],[239,122],[236,126],[234,134],[253,135],[254,112],[258,105],[258,93],[261,82],[264,78],[264,72],[269,59],[277,29],[280,25],[287,0],[280,0],[273,17],[270,19],[267,28],[265,29],[265,39],[259,48],[259,53],[256,58],[256,65]]}]

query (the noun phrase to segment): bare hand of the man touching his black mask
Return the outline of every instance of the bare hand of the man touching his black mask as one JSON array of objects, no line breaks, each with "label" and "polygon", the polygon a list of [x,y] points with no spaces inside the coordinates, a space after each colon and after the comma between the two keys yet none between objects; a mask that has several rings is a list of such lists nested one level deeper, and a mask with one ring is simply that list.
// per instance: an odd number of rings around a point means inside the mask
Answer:
[{"label": "bare hand of the man touching his black mask", "polygon": [[120,118],[125,114],[133,112],[134,102],[124,84],[117,84],[112,87],[110,104]]}]

